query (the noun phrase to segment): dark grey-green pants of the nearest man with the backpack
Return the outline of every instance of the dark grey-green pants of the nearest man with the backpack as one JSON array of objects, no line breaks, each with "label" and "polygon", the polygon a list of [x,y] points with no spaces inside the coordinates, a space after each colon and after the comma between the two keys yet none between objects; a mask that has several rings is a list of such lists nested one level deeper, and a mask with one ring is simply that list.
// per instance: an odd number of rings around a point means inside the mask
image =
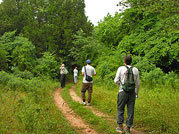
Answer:
[{"label": "dark grey-green pants of the nearest man with the backpack", "polygon": [[124,109],[127,104],[127,127],[131,127],[134,119],[135,92],[126,93],[124,91],[118,93],[117,97],[117,123],[124,122]]}]

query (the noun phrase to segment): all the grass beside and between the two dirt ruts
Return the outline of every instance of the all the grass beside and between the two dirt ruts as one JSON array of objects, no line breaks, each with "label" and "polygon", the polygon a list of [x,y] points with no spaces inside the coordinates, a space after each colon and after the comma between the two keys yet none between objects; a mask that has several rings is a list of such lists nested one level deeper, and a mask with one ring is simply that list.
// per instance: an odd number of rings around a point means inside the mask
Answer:
[{"label": "all the grass beside and between the two dirt ruts", "polygon": [[[150,134],[179,133],[179,92],[164,86],[150,86],[141,83],[139,98],[135,105],[134,128]],[[53,91],[60,84],[52,81],[42,82],[37,90],[11,89],[0,85],[0,133],[1,134],[76,134],[53,102]],[[64,100],[75,113],[81,116],[99,133],[115,134],[116,101],[118,87],[94,84],[92,106],[113,119],[97,117],[89,109],[74,102],[69,95],[72,84],[62,92]],[[81,82],[76,92],[81,96]],[[87,94],[86,94],[87,95]],[[86,96],[87,97],[87,96]],[[125,114],[126,119],[126,114]]]}]

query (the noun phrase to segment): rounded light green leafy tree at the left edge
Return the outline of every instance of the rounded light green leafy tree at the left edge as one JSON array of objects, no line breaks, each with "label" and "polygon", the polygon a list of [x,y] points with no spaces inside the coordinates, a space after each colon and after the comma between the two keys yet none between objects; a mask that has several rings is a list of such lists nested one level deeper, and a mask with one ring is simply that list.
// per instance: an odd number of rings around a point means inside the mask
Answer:
[{"label": "rounded light green leafy tree at the left edge", "polygon": [[12,66],[18,67],[20,71],[32,71],[36,64],[35,46],[28,39],[15,36],[15,33],[7,32],[0,38],[2,65],[8,66],[8,71]]}]

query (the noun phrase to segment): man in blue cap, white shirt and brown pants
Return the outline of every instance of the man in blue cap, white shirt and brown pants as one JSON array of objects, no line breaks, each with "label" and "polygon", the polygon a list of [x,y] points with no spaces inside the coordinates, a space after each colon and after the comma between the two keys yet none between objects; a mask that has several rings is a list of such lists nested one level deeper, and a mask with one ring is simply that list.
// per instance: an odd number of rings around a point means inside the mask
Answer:
[{"label": "man in blue cap, white shirt and brown pants", "polygon": [[88,103],[87,106],[90,106],[91,103],[91,96],[93,92],[93,80],[92,76],[96,75],[96,71],[94,67],[91,66],[91,60],[86,61],[87,65],[82,68],[82,76],[83,76],[83,83],[81,87],[81,96],[82,96],[82,104],[86,105],[85,100],[85,92],[88,90]]}]

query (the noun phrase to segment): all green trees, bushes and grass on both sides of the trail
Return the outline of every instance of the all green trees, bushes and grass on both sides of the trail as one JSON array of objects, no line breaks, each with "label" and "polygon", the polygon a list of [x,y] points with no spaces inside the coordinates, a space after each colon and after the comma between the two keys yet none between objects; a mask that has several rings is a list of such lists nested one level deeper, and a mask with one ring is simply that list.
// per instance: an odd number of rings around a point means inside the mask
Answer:
[{"label": "all green trees, bushes and grass on both sides of the trail", "polygon": [[[50,133],[54,127],[54,133],[59,128],[75,133],[50,101],[58,85],[50,81],[58,81],[59,64],[65,63],[71,73],[88,58],[97,72],[93,104],[114,116],[113,79],[126,54],[132,55],[142,84],[135,127],[152,133],[179,132],[178,0],[122,0],[119,5],[127,8],[108,14],[94,27],[85,16],[84,0],[0,4],[1,133]],[[102,93],[107,96],[105,106]],[[58,116],[61,119],[55,120]]]}]

